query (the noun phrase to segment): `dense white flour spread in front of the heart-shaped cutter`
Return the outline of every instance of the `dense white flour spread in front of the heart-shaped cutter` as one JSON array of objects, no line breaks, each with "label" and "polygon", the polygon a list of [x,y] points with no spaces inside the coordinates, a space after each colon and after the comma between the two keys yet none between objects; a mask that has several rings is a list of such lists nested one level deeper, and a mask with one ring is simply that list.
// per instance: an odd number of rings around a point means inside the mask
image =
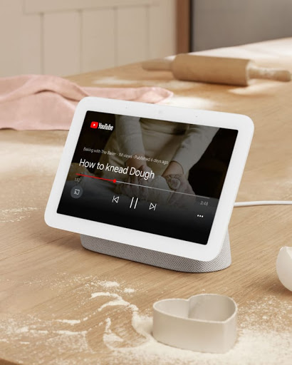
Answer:
[{"label": "dense white flour spread in front of the heart-shaped cutter", "polygon": [[[244,329],[239,333],[239,339],[233,349],[226,354],[204,354],[176,349],[155,341],[151,335],[152,318],[134,314],[132,318],[134,329],[145,336],[145,343],[135,348],[115,349],[116,339],[105,331],[103,340],[115,352],[117,359],[125,356],[127,364],[200,364],[200,365],[247,365],[247,364],[291,364],[291,351],[288,353],[291,337],[288,334],[278,334],[275,331]],[[290,334],[291,336],[291,334]],[[285,351],[286,354],[285,354]],[[120,354],[118,356],[118,354]],[[120,361],[120,360],[119,360]],[[118,364],[119,361],[113,364]],[[123,364],[120,361],[120,364]]]}]

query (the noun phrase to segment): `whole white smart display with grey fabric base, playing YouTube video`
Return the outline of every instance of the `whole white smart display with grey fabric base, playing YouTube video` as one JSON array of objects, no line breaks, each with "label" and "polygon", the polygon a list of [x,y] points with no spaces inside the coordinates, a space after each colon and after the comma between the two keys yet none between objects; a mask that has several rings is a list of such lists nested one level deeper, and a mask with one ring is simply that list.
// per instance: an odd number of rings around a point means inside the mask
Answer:
[{"label": "whole white smart display with grey fabric base, playing YouTube video", "polygon": [[184,272],[224,269],[253,132],[245,115],[83,98],[46,223],[106,255]]}]

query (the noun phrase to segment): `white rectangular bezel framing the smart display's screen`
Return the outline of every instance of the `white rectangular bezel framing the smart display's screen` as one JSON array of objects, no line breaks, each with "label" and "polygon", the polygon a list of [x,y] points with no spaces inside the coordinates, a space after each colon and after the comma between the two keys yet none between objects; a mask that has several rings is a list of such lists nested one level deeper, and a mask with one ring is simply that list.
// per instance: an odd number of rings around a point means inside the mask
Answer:
[{"label": "white rectangular bezel framing the smart display's screen", "polygon": [[[57,213],[58,204],[61,199],[63,187],[66,183],[68,170],[75,152],[80,130],[88,110],[238,130],[234,151],[231,155],[229,168],[207,245],[177,240],[171,237],[155,235],[101,222],[93,222],[78,217],[69,217]],[[251,118],[246,115],[105,98],[83,98],[76,107],[63,154],[58,165],[56,178],[51,189],[51,195],[48,199],[45,212],[46,224],[61,230],[100,237],[105,240],[165,252],[170,255],[177,255],[200,261],[210,261],[217,257],[221,251],[237,190],[239,188],[241,175],[244,171],[244,165],[249,153],[253,133],[254,123]]]}]

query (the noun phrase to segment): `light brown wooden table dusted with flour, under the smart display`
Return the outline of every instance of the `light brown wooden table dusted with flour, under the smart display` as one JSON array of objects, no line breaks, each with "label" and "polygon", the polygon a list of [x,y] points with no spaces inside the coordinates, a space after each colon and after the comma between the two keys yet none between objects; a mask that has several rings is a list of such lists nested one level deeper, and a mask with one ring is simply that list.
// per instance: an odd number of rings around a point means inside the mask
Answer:
[{"label": "light brown wooden table dusted with flour, under the smart display", "polygon": [[[249,56],[292,71],[292,38],[205,53]],[[172,105],[249,115],[254,141],[237,200],[291,200],[292,83],[179,82],[140,64],[70,79],[83,86],[163,86],[174,91]],[[279,248],[292,245],[291,206],[234,209],[233,263],[221,272],[185,274],[98,255],[83,249],[78,235],[43,221],[66,135],[0,132],[0,364],[291,364],[292,295],[275,269]],[[202,292],[239,304],[239,341],[229,354],[189,354],[137,333],[150,332],[153,302]]]}]

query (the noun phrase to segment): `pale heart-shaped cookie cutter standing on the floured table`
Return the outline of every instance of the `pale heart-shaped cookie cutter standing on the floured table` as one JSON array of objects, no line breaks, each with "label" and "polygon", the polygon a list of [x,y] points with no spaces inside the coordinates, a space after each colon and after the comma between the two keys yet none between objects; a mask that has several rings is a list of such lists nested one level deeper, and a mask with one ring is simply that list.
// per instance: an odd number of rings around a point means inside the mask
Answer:
[{"label": "pale heart-shaped cookie cutter standing on the floured table", "polygon": [[180,349],[224,353],[236,341],[237,305],[219,294],[163,299],[153,304],[153,336]]}]

